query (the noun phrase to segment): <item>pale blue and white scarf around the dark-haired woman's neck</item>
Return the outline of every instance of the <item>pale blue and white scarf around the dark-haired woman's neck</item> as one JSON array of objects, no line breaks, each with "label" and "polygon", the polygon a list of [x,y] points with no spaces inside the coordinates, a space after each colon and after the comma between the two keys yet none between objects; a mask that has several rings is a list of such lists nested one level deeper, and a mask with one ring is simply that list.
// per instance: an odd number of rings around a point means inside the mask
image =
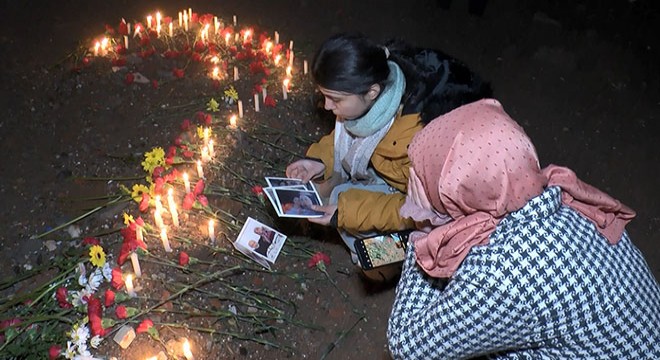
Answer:
[{"label": "pale blue and white scarf around the dark-haired woman's neck", "polygon": [[390,130],[399,110],[406,79],[397,64],[387,62],[390,75],[385,90],[362,117],[346,124],[335,122],[335,158],[333,172],[342,179],[372,182],[376,176],[368,170],[376,146]]}]

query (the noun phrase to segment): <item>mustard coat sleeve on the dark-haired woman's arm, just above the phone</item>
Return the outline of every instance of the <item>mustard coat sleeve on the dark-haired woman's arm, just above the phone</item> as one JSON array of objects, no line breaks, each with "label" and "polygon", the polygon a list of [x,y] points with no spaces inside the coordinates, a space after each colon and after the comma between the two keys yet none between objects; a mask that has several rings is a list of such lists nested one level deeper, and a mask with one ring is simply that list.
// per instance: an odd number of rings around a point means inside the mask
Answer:
[{"label": "mustard coat sleeve on the dark-haired woman's arm, just above the phone", "polygon": [[385,194],[348,189],[339,194],[337,227],[351,232],[392,232],[412,229],[414,222],[399,215],[406,200],[400,192]]}]

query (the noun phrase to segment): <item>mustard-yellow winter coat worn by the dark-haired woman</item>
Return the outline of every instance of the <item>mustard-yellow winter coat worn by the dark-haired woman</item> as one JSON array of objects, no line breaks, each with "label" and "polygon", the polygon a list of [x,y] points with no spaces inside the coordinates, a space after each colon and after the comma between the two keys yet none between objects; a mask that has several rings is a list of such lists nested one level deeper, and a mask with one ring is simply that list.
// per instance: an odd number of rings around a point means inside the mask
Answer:
[{"label": "mustard-yellow winter coat worn by the dark-haired woman", "polygon": [[[400,192],[349,189],[339,194],[337,225],[349,232],[391,232],[414,228],[411,219],[402,218],[399,209],[406,199],[410,159],[408,145],[423,127],[419,114],[399,115],[371,156],[371,166],[390,186]],[[332,176],[334,131],[307,150],[307,157],[325,164],[324,180]]]}]

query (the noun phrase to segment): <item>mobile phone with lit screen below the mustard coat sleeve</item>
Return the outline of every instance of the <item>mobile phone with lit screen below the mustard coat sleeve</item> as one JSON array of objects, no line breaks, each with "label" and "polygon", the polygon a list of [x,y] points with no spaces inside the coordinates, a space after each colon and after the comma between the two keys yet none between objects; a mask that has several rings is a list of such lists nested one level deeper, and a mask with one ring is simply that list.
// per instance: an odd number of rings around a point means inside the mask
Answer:
[{"label": "mobile phone with lit screen below the mustard coat sleeve", "polygon": [[399,263],[406,258],[410,231],[355,240],[355,252],[364,270]]}]

